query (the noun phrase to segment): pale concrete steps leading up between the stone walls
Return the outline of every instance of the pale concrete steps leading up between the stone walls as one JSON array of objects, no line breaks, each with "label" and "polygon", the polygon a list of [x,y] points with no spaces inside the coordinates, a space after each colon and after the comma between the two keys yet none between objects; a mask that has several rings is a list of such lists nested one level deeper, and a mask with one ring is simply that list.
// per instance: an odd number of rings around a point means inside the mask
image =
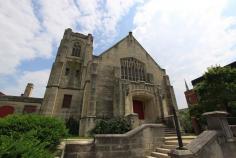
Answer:
[{"label": "pale concrete steps leading up between the stone walls", "polygon": [[[182,133],[182,140],[184,146],[190,143],[196,137],[197,136],[195,135],[187,135]],[[164,144],[161,147],[156,148],[156,150],[151,153],[151,156],[146,156],[146,158],[170,158],[170,156],[168,156],[170,150],[178,147],[178,140],[175,130],[165,128],[164,139]]]}]

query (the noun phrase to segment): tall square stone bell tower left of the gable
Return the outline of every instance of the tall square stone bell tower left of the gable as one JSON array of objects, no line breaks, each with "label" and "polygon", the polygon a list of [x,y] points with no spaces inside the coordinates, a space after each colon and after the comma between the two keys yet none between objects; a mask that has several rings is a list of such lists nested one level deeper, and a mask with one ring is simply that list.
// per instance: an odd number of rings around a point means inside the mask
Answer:
[{"label": "tall square stone bell tower left of the gable", "polygon": [[52,65],[41,113],[80,118],[86,70],[92,60],[93,37],[66,29]]}]

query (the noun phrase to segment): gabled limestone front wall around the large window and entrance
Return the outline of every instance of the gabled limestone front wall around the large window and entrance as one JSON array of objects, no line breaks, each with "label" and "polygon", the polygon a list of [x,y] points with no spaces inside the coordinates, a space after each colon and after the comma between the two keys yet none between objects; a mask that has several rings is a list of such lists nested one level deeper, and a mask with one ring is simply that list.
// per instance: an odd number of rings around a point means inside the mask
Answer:
[{"label": "gabled limestone front wall around the large window and entrance", "polygon": [[[112,46],[110,49],[99,55],[94,61],[98,63],[97,78],[96,78],[96,116],[97,117],[112,117],[112,116],[124,116],[127,115],[127,105],[132,104],[132,96],[129,99],[129,103],[126,103],[126,95],[132,91],[131,82],[121,83],[121,59],[132,57],[142,62],[145,65],[145,74],[153,75],[153,82],[151,87],[155,91],[136,88],[134,90],[142,90],[150,92],[154,96],[152,100],[153,104],[147,105],[146,108],[148,115],[153,118],[149,119],[149,122],[155,122],[157,118],[161,116],[161,100],[159,90],[162,88],[163,94],[166,89],[164,85],[165,71],[157,65],[157,63],[151,58],[151,56],[144,50],[144,48],[138,43],[138,41],[129,34],[123,40]],[[135,85],[143,85],[141,82],[135,82]],[[127,85],[127,87],[126,87]],[[132,86],[132,85],[131,85]],[[128,92],[125,92],[128,88]],[[103,97],[99,97],[103,96]],[[167,98],[167,97],[166,97]],[[164,98],[164,99],[166,99]],[[142,99],[139,97],[139,99]],[[147,98],[145,98],[147,100]],[[167,103],[169,106],[169,102]],[[131,105],[128,107],[132,109]],[[128,114],[133,113],[129,111]],[[150,121],[152,120],[152,121]],[[154,120],[154,121],[153,121]]]}]

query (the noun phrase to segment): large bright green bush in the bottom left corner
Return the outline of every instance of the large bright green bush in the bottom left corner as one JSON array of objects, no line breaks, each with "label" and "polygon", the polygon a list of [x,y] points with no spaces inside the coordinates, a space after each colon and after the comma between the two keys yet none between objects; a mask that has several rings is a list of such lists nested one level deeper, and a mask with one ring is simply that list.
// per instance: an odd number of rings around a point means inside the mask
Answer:
[{"label": "large bright green bush in the bottom left corner", "polygon": [[10,115],[0,119],[0,156],[52,157],[49,151],[54,152],[66,135],[64,122],[57,118]]}]

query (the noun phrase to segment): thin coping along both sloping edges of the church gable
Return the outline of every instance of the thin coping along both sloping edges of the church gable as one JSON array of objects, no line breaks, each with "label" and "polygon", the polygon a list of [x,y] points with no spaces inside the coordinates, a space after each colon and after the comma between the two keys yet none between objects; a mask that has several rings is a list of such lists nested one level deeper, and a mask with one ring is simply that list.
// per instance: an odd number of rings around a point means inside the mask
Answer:
[{"label": "thin coping along both sloping edges of the church gable", "polygon": [[[113,46],[111,46],[110,48],[108,48],[107,50],[105,50],[104,52],[102,52],[100,55],[98,55],[97,57],[101,57],[102,55],[106,54],[109,50],[111,50],[112,48],[116,47],[117,45],[119,45],[121,42],[123,42],[124,40],[128,39],[129,36],[133,37],[133,39],[135,40],[135,42],[138,44],[138,46],[140,46],[144,52],[150,57],[151,60],[153,60],[153,62],[160,68],[160,65],[157,64],[157,62],[152,58],[152,56],[143,48],[143,46],[138,42],[138,40],[133,36],[132,32],[129,32],[129,34],[127,36],[125,36],[124,38],[122,38],[120,41],[118,41],[117,43],[115,43]],[[162,69],[164,70],[164,69]]]}]

